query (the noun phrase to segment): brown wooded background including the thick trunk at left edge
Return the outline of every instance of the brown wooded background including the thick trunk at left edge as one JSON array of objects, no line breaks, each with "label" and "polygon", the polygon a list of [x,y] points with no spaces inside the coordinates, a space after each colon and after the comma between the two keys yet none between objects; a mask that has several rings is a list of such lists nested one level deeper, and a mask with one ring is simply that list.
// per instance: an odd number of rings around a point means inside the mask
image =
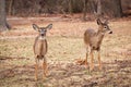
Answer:
[{"label": "brown wooded background including the thick trunk at left edge", "polygon": [[48,14],[83,13],[95,18],[122,17],[131,15],[131,0],[0,0],[0,30],[11,28],[7,23],[10,16],[40,16]]}]

